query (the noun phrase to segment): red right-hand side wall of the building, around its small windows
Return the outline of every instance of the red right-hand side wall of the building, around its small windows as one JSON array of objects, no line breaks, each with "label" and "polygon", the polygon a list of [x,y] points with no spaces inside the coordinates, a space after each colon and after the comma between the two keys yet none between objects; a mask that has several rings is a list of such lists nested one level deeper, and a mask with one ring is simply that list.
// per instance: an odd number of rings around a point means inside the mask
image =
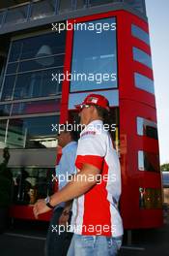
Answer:
[{"label": "red right-hand side wall of the building, around its small windows", "polygon": [[118,16],[118,63],[120,97],[120,140],[122,166],[121,212],[127,229],[157,227],[162,224],[161,209],[139,207],[139,187],[160,188],[160,174],[138,170],[138,150],[158,154],[158,142],[137,135],[137,116],[156,122],[155,95],[135,86],[134,72],[153,80],[153,71],[133,60],[132,48],[151,53],[145,43],[131,35],[131,24],[148,32],[148,24],[127,12]]}]

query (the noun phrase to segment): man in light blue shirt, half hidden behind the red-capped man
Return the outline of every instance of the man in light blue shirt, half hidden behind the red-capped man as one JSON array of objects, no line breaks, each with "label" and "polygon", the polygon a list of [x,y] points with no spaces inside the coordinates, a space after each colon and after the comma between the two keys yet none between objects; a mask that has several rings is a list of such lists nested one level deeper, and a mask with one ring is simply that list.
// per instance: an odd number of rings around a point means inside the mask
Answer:
[{"label": "man in light blue shirt, half hidden behind the red-capped man", "polygon": [[[77,150],[76,134],[73,131],[68,131],[69,124],[60,126],[61,132],[58,135],[58,144],[62,147],[62,157],[59,165],[56,167],[56,176],[58,178],[59,190],[66,184],[68,176],[75,173],[75,155]],[[55,179],[55,178],[54,178]],[[72,233],[57,232],[59,224],[65,225],[70,221],[71,204],[60,204],[54,208],[52,218],[50,220],[47,238],[46,238],[46,255],[61,255],[66,256]],[[63,246],[63,244],[65,246]]]}]

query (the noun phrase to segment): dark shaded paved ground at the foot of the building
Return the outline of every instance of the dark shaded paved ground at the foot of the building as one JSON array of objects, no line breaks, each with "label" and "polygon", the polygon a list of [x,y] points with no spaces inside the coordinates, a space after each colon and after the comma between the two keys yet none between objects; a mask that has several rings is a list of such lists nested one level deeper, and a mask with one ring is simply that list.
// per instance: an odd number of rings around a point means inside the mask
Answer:
[{"label": "dark shaded paved ground at the foot of the building", "polygon": [[[46,230],[42,222],[16,221],[13,229],[0,235],[0,256],[43,256]],[[169,224],[157,230],[134,231],[132,238],[127,245],[126,234],[120,256],[169,256]]]}]

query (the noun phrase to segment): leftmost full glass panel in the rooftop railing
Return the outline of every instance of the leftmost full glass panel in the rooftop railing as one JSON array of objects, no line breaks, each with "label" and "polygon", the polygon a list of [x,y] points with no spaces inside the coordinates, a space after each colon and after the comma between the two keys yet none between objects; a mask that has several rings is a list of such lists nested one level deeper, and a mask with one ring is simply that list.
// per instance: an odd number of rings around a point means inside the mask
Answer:
[{"label": "leftmost full glass panel in the rooftop railing", "polygon": [[26,21],[28,5],[8,10],[4,25],[11,25]]}]

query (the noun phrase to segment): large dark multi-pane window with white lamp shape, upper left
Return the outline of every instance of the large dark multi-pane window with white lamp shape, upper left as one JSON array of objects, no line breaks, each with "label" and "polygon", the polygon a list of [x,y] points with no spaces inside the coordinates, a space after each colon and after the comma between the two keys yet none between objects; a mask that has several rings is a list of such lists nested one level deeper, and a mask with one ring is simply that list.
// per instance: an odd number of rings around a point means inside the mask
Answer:
[{"label": "large dark multi-pane window with white lamp shape, upper left", "polygon": [[52,73],[63,73],[65,35],[65,31],[48,33],[12,42],[2,100],[61,93],[62,84],[58,80],[52,81]]}]

